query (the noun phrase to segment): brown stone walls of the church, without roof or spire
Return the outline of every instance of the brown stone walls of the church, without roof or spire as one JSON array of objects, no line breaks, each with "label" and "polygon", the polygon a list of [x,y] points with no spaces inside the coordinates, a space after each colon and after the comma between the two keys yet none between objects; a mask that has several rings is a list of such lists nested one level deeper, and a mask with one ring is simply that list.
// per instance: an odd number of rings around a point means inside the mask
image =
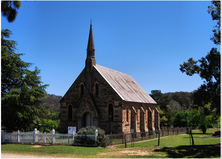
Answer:
[{"label": "brown stone walls of the church, without roof or spire", "polygon": [[[85,87],[84,69],[62,98],[60,102],[61,132],[67,132],[68,126],[76,126],[79,130],[83,126],[84,111],[92,113],[94,124],[96,123],[106,133],[110,133],[110,129],[112,133],[130,133],[132,129],[134,132],[140,132],[155,130],[155,127],[159,127],[159,112],[155,111],[155,105],[122,101],[94,67],[90,79],[91,92]],[[84,92],[81,93],[81,91]],[[109,104],[113,106],[111,128]],[[71,120],[68,119],[69,105],[72,106]],[[154,122],[157,119],[158,121]]]}]

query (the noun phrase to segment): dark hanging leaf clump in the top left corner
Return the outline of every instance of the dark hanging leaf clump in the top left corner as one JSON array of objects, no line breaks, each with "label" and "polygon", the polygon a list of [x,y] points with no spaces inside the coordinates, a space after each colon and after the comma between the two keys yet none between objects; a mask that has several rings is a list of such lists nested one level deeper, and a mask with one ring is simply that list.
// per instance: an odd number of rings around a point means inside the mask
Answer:
[{"label": "dark hanging leaf clump in the top left corner", "polygon": [[1,1],[1,12],[8,22],[13,22],[18,14],[17,10],[21,7],[20,1]]}]

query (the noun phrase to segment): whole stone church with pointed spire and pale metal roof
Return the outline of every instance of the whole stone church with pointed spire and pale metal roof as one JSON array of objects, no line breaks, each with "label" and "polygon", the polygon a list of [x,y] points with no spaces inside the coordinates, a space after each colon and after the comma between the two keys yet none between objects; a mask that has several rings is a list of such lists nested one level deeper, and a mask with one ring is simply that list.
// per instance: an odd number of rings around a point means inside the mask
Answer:
[{"label": "whole stone church with pointed spire and pale metal roof", "polygon": [[85,68],[60,101],[61,132],[96,126],[108,133],[159,129],[157,103],[128,74],[96,64],[90,24]]}]

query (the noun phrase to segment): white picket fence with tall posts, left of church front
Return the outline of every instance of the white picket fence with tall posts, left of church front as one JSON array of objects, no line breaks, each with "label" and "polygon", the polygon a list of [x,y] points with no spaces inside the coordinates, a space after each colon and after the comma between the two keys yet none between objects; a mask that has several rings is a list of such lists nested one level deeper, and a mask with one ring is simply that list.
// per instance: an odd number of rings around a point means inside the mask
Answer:
[{"label": "white picket fence with tall posts, left of church front", "polygon": [[[5,133],[1,132],[1,143],[26,143],[26,144],[52,144],[52,145],[73,145],[75,138],[82,135],[77,134],[57,134],[53,129],[51,133],[41,133],[36,128],[31,132]],[[98,137],[98,131],[94,135],[86,135],[87,138],[95,141]]]}]

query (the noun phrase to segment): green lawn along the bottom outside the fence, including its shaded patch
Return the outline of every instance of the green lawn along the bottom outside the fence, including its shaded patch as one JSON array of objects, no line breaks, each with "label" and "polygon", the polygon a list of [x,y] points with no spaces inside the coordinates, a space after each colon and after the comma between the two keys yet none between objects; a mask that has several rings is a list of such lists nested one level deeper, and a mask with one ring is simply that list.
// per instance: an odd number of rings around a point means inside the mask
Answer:
[{"label": "green lawn along the bottom outside the fence, including its shaded patch", "polygon": [[75,147],[75,146],[36,146],[36,145],[1,145],[2,153],[17,153],[27,155],[63,157],[63,158],[219,158],[220,137],[210,136],[215,130],[210,129],[207,134],[193,131],[194,146],[190,146],[189,135],[177,135],[158,140],[118,145],[114,148]]}]

